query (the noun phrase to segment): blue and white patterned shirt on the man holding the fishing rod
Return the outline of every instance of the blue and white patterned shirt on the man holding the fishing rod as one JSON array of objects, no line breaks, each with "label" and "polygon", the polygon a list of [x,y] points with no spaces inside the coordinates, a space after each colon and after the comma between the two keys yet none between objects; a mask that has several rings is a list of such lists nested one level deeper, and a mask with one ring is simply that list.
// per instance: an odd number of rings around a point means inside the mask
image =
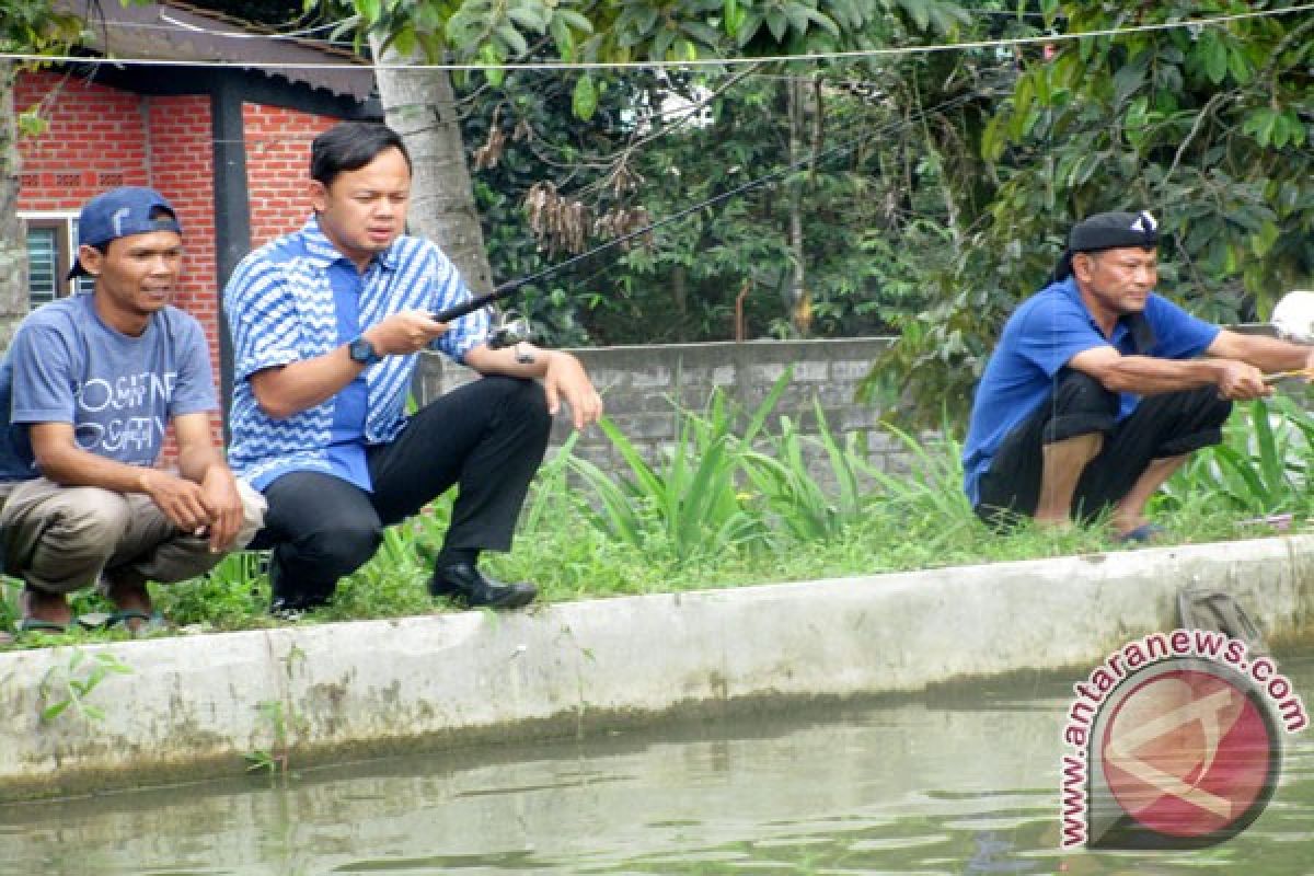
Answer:
[{"label": "blue and white patterned shirt on the man holding the fishing rod", "polygon": [[[223,290],[223,310],[233,334],[234,389],[229,462],[264,489],[289,471],[323,471],[364,490],[359,466],[343,461],[342,394],[283,420],[260,410],[251,376],[265,368],[314,359],[342,344],[330,271],[336,263],[355,265],[311,219],[300,231],[272,240],[250,253]],[[428,240],[401,236],[371,261],[360,277],[359,328],[368,330],[403,310],[439,311],[468,301],[469,289],[456,267]],[[339,290],[340,292],[340,290]],[[487,339],[486,310],[456,319],[432,348],[464,361],[465,353]],[[360,452],[392,441],[406,424],[406,395],[419,353],[385,356],[365,369],[365,416]],[[330,452],[334,445],[335,452]],[[352,471],[351,469],[355,469]],[[368,474],[365,475],[368,481]]]}]

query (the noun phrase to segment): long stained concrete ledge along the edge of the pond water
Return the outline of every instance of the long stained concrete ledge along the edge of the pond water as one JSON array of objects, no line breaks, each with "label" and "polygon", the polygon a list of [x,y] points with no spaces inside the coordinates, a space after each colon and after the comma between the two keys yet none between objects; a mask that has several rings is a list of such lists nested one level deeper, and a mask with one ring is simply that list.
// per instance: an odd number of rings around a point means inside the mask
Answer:
[{"label": "long stained concrete ledge along the edge of the pond water", "polygon": [[1192,582],[1292,634],[1314,617],[1314,536],[87,646],[133,668],[87,695],[92,721],[41,721],[58,683],[85,676],[79,649],[5,653],[0,799],[233,775],[260,749],[306,763],[1084,672],[1169,629]]}]

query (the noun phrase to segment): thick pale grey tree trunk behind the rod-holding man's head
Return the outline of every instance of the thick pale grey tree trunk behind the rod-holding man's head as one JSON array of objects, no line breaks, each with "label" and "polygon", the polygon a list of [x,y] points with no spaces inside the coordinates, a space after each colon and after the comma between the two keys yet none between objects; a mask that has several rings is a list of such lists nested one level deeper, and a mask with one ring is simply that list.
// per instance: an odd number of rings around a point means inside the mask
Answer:
[{"label": "thick pale grey tree trunk behind the rod-holding man's head", "polygon": [[[392,49],[371,47],[381,63],[405,62]],[[414,234],[443,248],[466,285],[484,293],[493,288],[493,271],[484,246],[465,143],[456,114],[452,80],[445,70],[376,70],[378,96],[388,125],[402,135],[414,173],[409,225]]]}]

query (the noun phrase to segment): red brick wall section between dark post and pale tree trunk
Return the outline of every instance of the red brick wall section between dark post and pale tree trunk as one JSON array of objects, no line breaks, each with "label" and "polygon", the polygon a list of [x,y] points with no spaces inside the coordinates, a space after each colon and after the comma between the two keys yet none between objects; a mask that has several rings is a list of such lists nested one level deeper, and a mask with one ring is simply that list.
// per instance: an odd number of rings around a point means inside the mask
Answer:
[{"label": "red brick wall section between dark post and pale tree trunk", "polygon": [[252,246],[305,223],[310,215],[310,141],[336,122],[294,109],[242,105]]}]

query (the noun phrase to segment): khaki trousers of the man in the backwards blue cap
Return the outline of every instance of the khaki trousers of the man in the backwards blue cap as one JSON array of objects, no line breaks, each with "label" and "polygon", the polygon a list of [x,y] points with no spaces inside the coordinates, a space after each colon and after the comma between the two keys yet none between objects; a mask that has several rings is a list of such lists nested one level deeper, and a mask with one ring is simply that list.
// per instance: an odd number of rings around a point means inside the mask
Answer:
[{"label": "khaki trousers of the man in the backwards blue cap", "polygon": [[[238,481],[244,548],[264,523],[264,496]],[[172,583],[213,569],[222,553],[206,538],[180,532],[139,493],[64,487],[46,478],[13,487],[0,508],[4,571],[30,587],[70,594],[104,574],[121,583]]]}]

